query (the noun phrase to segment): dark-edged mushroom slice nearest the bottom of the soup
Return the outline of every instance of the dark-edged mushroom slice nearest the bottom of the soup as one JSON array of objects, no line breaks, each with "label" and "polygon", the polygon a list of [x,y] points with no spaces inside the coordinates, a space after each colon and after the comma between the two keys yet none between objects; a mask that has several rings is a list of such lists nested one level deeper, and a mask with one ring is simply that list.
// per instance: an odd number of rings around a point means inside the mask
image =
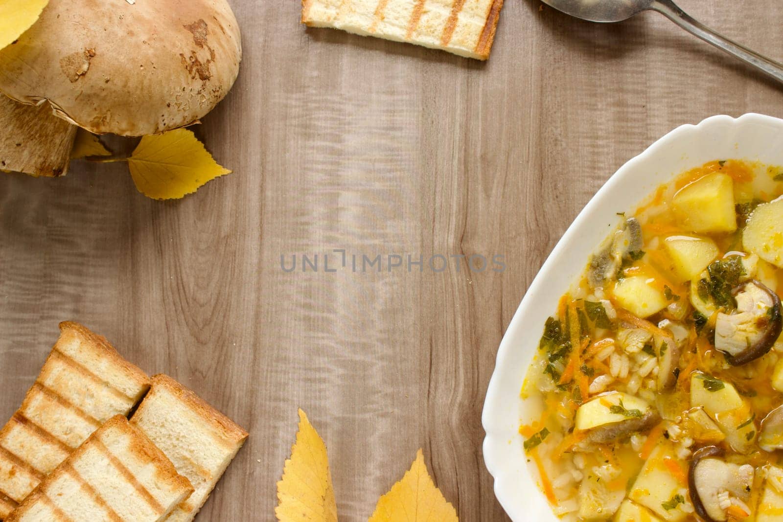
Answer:
[{"label": "dark-edged mushroom slice nearest the bottom of the soup", "polygon": [[701,448],[693,454],[688,470],[691,502],[706,522],[725,522],[731,504],[744,505],[750,499],[753,467],[727,463],[723,454],[716,446]]}]

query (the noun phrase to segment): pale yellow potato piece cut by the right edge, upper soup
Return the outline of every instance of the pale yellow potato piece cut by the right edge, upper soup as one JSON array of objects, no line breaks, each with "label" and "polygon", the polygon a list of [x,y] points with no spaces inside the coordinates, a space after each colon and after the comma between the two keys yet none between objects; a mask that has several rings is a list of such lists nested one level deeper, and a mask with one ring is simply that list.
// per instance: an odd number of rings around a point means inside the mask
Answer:
[{"label": "pale yellow potato piece cut by the right edge, upper soup", "polygon": [[756,207],[742,232],[745,250],[783,268],[783,198]]}]

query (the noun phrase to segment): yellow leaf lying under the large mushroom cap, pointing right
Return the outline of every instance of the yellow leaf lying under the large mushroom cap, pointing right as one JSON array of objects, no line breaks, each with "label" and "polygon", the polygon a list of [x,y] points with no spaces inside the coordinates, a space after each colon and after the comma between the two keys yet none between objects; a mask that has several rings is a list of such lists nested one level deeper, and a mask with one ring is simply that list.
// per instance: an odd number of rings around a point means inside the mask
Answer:
[{"label": "yellow leaf lying under the large mushroom cap, pointing right", "polygon": [[144,136],[128,158],[128,167],[139,192],[154,200],[179,199],[231,172],[184,128]]}]

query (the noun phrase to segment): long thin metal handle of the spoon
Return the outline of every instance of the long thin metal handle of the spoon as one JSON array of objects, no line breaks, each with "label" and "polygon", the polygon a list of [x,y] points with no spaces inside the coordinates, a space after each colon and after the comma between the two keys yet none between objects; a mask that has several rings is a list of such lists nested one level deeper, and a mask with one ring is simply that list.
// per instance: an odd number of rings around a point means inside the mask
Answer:
[{"label": "long thin metal handle of the spoon", "polygon": [[691,18],[691,16],[677,7],[673,0],[654,0],[650,9],[666,15],[669,20],[677,23],[685,31],[695,34],[698,38],[742,59],[742,61],[749,63],[783,83],[783,64],[762,56],[758,52],[748,49],[745,45],[731,41],[722,34],[716,33],[701,22],[698,22],[698,20]]}]

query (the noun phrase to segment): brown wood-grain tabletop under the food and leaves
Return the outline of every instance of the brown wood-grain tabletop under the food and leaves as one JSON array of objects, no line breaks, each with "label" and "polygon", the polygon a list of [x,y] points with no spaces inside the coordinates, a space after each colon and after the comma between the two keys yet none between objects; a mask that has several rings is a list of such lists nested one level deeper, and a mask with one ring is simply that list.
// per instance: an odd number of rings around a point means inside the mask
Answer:
[{"label": "brown wood-grain tabletop under the food and leaves", "polygon": [[[780,2],[681,3],[783,59]],[[273,519],[298,407],[329,448],[341,520],[366,520],[417,448],[462,520],[505,520],[482,401],[539,266],[623,162],[716,113],[783,117],[783,88],[655,13],[598,25],[507,0],[478,63],[307,30],[294,0],[233,6],[240,77],[197,128],[233,175],[170,203],[122,164],[0,176],[0,417],[74,319],[250,430],[199,520]],[[335,249],[346,267],[325,272]],[[381,272],[362,272],[377,254]],[[448,266],[409,272],[409,254]]]}]

